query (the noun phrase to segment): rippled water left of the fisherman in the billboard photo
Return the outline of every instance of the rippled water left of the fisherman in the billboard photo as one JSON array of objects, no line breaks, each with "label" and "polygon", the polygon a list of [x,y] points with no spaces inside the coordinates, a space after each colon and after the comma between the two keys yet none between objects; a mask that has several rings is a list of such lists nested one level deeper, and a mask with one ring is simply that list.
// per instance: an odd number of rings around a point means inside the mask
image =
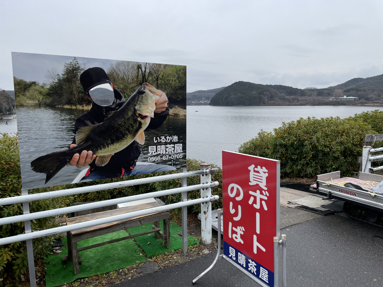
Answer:
[{"label": "rippled water left of the fisherman in the billboard photo", "polygon": [[45,174],[31,170],[31,161],[47,153],[69,148],[74,122],[83,110],[25,107],[17,109],[23,188],[37,188],[71,183],[79,169],[65,166],[46,185]]}]

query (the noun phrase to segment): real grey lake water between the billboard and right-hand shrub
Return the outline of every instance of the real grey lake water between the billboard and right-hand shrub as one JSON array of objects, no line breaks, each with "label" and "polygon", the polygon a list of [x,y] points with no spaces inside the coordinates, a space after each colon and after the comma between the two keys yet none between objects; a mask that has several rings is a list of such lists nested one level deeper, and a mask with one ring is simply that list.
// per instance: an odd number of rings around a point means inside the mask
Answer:
[{"label": "real grey lake water between the billboard and right-hand shrub", "polygon": [[[187,107],[187,157],[222,166],[222,150],[236,152],[261,129],[272,132],[282,122],[300,117],[354,116],[381,107],[279,106],[279,107]],[[198,110],[196,112],[195,110]]]}]

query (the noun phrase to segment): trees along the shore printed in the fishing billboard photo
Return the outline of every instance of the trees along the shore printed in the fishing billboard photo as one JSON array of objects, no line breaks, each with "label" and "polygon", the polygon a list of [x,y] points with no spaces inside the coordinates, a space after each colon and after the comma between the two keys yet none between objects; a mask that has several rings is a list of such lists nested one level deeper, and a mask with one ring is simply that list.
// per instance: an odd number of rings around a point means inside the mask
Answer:
[{"label": "trees along the shore printed in the fishing billboard photo", "polygon": [[[47,70],[47,83],[14,77],[16,106],[88,109],[91,103],[85,97],[79,80],[84,70],[85,67],[74,58],[64,64],[61,73],[57,73],[54,68]],[[170,107],[185,103],[185,66],[119,61],[111,65],[106,73],[125,99],[143,83],[150,83],[166,93]]]}]

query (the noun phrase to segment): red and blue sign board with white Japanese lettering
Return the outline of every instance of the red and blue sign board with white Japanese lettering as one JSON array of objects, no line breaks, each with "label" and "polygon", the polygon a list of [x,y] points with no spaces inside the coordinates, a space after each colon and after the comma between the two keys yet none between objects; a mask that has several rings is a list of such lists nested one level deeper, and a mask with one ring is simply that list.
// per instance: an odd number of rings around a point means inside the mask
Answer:
[{"label": "red and blue sign board with white Japanese lettering", "polygon": [[274,286],[280,161],[223,151],[222,170],[224,255],[255,281]]}]

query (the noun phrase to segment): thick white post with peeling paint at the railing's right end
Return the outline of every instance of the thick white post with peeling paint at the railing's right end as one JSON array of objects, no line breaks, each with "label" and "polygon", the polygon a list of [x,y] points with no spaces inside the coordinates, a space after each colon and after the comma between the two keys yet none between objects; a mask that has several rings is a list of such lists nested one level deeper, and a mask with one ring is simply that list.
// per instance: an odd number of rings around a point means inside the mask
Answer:
[{"label": "thick white post with peeling paint at the railing's right end", "polygon": [[[201,163],[200,169],[205,170],[210,167],[210,163]],[[201,184],[209,183],[211,181],[211,175],[201,174]],[[209,196],[211,194],[211,188],[201,189],[201,198]],[[201,204],[201,244],[211,244],[211,202]]]}]

